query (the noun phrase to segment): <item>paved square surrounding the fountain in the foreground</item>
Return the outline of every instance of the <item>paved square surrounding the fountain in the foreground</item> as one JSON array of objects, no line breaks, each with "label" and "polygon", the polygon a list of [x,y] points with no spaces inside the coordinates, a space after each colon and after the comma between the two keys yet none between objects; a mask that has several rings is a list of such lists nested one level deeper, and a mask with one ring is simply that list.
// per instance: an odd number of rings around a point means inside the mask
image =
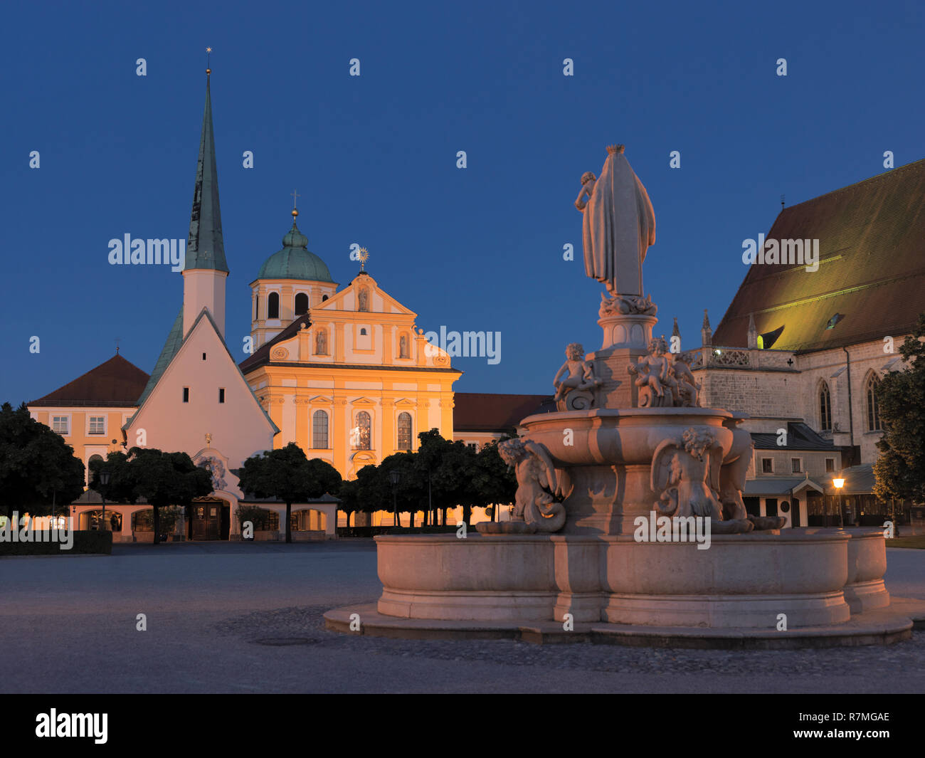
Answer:
[{"label": "paved square surrounding the fountain in the foreground", "polygon": [[[925,551],[887,551],[925,599]],[[921,692],[925,631],[886,647],[731,652],[383,640],[321,615],[376,600],[370,541],[192,542],[0,558],[6,692]],[[136,616],[147,631],[136,630]]]}]

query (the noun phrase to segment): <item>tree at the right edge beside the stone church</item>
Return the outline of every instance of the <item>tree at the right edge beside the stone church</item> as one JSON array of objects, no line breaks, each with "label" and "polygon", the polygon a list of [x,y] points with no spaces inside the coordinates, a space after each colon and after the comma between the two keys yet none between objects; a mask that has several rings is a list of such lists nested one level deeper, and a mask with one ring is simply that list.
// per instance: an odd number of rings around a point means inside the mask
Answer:
[{"label": "tree at the right edge beside the stone church", "polygon": [[925,314],[899,353],[902,371],[883,377],[875,392],[883,436],[874,463],[873,493],[881,500],[925,503]]}]

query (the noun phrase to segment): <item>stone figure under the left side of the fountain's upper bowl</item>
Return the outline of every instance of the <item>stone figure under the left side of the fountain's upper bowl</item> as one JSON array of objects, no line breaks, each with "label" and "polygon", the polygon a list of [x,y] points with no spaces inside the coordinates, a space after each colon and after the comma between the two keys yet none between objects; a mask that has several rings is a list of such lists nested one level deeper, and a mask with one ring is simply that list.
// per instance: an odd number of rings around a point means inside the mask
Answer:
[{"label": "stone figure under the left side of the fountain's upper bowl", "polygon": [[565,526],[565,506],[553,496],[561,496],[561,490],[546,447],[515,438],[499,442],[498,452],[517,477],[512,521],[524,521],[528,531],[555,532]]}]

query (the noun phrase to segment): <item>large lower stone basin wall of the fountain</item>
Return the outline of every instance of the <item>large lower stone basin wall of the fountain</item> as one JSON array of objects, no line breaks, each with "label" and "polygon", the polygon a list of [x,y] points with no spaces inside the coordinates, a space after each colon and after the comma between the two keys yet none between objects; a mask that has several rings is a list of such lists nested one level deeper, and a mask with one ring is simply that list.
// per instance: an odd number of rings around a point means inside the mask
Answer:
[{"label": "large lower stone basin wall of the fountain", "polygon": [[[559,621],[774,629],[844,624],[851,578],[885,551],[838,529],[714,535],[693,543],[631,536],[376,537],[382,615],[481,622]],[[882,598],[882,595],[880,596]],[[872,600],[873,598],[871,598]],[[888,595],[886,596],[888,602]]]}]

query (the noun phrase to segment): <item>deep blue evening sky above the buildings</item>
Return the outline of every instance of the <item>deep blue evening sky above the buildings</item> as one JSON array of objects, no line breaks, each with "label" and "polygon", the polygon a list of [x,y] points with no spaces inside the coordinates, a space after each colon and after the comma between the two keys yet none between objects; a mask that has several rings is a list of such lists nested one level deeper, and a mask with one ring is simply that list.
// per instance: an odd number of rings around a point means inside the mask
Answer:
[{"label": "deep blue evening sky above the buildings", "polygon": [[4,17],[0,400],[15,404],[107,360],[117,337],[154,366],[181,275],[110,267],[107,242],[187,236],[207,45],[241,359],[248,285],[293,188],[341,285],[358,242],[419,327],[501,332],[497,366],[454,360],[457,391],[551,392],[566,342],[600,346],[573,200],[607,144],[626,144],[652,199],[645,287],[656,333],[677,316],[685,347],[704,307],[719,324],[742,241],[771,228],[782,193],[793,205],[881,173],[885,150],[896,166],[925,155],[914,2],[43,2]]}]

